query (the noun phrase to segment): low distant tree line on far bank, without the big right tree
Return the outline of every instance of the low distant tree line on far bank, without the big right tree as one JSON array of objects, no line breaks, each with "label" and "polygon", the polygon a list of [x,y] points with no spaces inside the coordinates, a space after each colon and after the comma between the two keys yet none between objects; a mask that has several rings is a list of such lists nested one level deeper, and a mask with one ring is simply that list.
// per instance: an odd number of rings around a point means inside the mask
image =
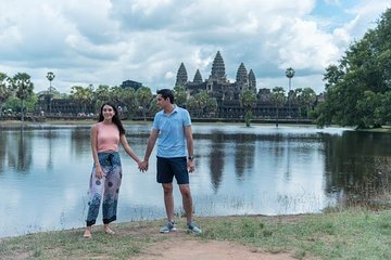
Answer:
[{"label": "low distant tree line on far bank, without the big right tree", "polygon": [[[50,74],[50,75],[49,75]],[[50,76],[50,77],[49,77]],[[96,110],[99,110],[100,105],[105,101],[111,101],[122,108],[124,116],[133,118],[137,113],[141,112],[143,119],[148,116],[154,115],[159,107],[154,101],[154,95],[149,87],[140,87],[135,90],[133,88],[109,87],[101,84],[93,88],[92,84],[88,87],[73,86],[71,93],[60,93],[55,88],[51,87],[51,81],[54,75],[48,73],[50,80],[50,88],[39,93],[34,92],[34,83],[30,81],[30,76],[26,73],[18,73],[13,77],[8,77],[0,73],[0,106],[1,112],[11,109],[12,112],[22,113],[22,119],[26,112],[34,112],[35,105],[39,96],[50,96],[52,99],[70,99],[81,104],[83,112],[87,112],[87,105],[92,104]],[[185,87],[175,87],[175,103],[179,106],[186,107],[195,117],[204,117],[209,115],[215,116],[217,113],[217,101],[212,98],[206,90],[200,91],[191,96]],[[272,91],[270,102],[275,104],[276,109],[280,109],[287,102],[286,92],[282,87],[276,87]],[[315,91],[311,88],[298,88],[289,93],[292,103],[305,109],[311,107],[315,101]],[[248,126],[252,119],[252,109],[257,104],[256,94],[252,91],[243,91],[240,95],[240,104],[245,110],[244,119]],[[50,105],[51,108],[51,105]],[[306,110],[306,109],[305,109]],[[308,112],[310,108],[306,110]],[[278,113],[277,113],[278,114]],[[304,115],[305,117],[308,115]]]}]

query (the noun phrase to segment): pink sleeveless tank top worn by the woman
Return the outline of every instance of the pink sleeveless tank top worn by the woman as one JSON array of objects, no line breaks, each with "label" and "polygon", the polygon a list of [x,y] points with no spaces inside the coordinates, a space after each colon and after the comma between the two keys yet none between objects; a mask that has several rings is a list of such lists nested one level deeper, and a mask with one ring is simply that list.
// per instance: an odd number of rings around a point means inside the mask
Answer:
[{"label": "pink sleeveless tank top worn by the woman", "polygon": [[118,152],[119,130],[115,126],[98,122],[98,153],[114,151]]}]

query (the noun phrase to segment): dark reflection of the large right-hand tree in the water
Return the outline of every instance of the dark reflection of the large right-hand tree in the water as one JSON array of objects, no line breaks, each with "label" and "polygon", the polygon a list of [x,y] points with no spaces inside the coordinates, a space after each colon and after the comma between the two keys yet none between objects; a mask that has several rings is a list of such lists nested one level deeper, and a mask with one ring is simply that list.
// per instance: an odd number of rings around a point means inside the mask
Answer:
[{"label": "dark reflection of the large right-hand tree in the water", "polygon": [[326,190],[340,203],[390,192],[391,134],[345,132],[324,135]]}]

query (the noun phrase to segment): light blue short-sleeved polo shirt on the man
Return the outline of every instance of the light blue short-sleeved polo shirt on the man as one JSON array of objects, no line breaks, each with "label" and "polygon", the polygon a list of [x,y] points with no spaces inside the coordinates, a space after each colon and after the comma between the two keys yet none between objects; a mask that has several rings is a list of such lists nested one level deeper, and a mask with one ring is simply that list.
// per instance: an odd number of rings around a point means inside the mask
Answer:
[{"label": "light blue short-sleeved polo shirt on the man", "polygon": [[166,115],[157,112],[152,128],[159,130],[157,156],[174,158],[186,156],[185,127],[191,126],[189,112],[175,105],[174,110]]}]

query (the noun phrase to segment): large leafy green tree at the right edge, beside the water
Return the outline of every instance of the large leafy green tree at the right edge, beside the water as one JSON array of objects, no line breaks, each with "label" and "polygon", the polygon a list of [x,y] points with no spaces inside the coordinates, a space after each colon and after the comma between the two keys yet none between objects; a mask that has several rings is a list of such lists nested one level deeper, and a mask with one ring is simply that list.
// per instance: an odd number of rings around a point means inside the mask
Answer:
[{"label": "large leafy green tree at the right edge, beside the water", "polygon": [[[338,65],[325,73],[325,103],[316,108],[320,126],[337,123],[357,128],[386,122],[379,100],[391,91],[391,9],[388,9],[363,39],[353,42]],[[370,107],[370,109],[369,109]],[[376,122],[378,121],[378,122]]]}]

